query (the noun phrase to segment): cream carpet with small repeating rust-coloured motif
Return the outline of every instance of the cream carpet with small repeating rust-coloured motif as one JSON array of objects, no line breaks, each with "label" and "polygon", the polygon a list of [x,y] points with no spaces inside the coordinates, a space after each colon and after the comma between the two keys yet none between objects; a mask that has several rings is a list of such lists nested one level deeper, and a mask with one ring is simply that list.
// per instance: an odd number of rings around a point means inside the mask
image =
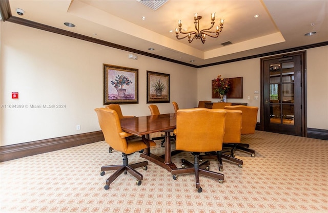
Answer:
[{"label": "cream carpet with small repeating rust-coloured motif", "polygon": [[[157,136],[157,135],[153,135]],[[152,137],[152,136],[151,136]],[[223,159],[224,182],[193,175],[172,175],[150,162],[140,186],[119,176],[109,190],[100,167],[121,164],[105,141],[2,162],[0,212],[328,212],[328,141],[256,131],[242,136],[256,150],[236,152],[243,167]],[[174,144],[172,144],[174,149]],[[163,154],[157,143],[151,149]],[[190,153],[173,156],[193,161]],[[129,162],[142,161],[139,153]],[[211,160],[210,170],[218,172]]]}]

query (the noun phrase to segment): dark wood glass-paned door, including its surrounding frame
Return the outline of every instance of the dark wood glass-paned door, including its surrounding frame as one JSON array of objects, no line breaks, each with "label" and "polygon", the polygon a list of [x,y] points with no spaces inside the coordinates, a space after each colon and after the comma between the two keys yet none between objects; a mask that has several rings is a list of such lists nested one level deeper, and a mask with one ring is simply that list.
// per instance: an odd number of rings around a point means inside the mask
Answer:
[{"label": "dark wood glass-paned door, including its surrounding frame", "polygon": [[261,59],[261,125],[267,132],[306,136],[305,52]]}]

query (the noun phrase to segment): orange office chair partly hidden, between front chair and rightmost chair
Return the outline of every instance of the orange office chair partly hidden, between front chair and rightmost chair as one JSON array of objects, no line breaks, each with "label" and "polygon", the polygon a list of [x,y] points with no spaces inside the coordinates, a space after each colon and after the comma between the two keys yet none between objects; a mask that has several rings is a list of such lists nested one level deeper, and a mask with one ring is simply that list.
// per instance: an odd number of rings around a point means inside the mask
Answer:
[{"label": "orange office chair partly hidden, between front chair and rightmost chair", "polygon": [[[241,118],[242,112],[240,110],[224,110],[227,112],[226,115],[226,124],[224,127],[224,137],[223,137],[223,147],[224,144],[230,143],[240,143],[241,138]],[[226,152],[230,152],[230,154],[226,154]],[[210,152],[206,153],[206,155],[200,155],[199,159],[217,159],[219,162],[219,171],[223,171],[222,158],[237,163],[239,167],[242,167],[243,161],[234,157],[233,149],[229,151],[222,152]]]}]

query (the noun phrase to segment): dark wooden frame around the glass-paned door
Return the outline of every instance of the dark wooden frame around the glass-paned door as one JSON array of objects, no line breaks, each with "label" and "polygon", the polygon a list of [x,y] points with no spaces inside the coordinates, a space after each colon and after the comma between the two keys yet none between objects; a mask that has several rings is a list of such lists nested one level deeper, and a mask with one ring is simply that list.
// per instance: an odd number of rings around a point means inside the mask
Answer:
[{"label": "dark wooden frame around the glass-paned door", "polygon": [[307,119],[306,119],[306,51],[300,51],[300,52],[292,52],[287,54],[281,54],[281,55],[275,55],[265,58],[260,58],[260,130],[264,131],[264,104],[265,104],[265,98],[264,98],[264,67],[263,67],[263,61],[265,60],[271,60],[271,59],[280,59],[285,57],[292,57],[300,55],[301,56],[301,120],[302,120],[302,137],[307,137]]}]

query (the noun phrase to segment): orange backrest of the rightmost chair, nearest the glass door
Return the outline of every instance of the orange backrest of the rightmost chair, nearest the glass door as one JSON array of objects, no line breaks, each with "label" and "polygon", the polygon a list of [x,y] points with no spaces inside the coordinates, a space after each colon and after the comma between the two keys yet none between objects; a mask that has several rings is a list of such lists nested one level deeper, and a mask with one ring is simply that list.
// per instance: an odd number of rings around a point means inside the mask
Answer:
[{"label": "orange backrest of the rightmost chair, nearest the glass door", "polygon": [[240,110],[242,112],[241,118],[241,134],[254,134],[257,123],[258,107],[249,107],[244,105],[235,105],[224,107],[227,110]]}]

